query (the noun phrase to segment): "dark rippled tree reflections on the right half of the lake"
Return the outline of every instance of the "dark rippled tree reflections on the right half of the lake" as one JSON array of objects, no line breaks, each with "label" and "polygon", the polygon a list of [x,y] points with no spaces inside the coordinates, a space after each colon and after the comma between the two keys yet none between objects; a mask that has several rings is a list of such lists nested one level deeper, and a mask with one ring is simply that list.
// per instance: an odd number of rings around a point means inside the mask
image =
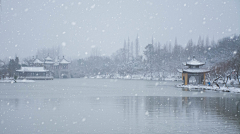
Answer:
[{"label": "dark rippled tree reflections on the right half of the lake", "polygon": [[122,101],[124,115],[135,119],[137,125],[145,124],[147,130],[169,132],[171,128],[170,132],[194,132],[197,129],[201,133],[240,130],[238,98],[148,96],[124,97]]}]

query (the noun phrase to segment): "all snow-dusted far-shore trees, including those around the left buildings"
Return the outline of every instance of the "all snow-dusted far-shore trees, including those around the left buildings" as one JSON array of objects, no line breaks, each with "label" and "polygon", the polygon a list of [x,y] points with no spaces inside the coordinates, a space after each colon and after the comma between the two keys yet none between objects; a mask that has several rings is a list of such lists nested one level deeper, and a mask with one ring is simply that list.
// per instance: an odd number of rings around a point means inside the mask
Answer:
[{"label": "all snow-dusted far-shore trees, including those around the left buildings", "polygon": [[[195,55],[196,59],[206,62],[205,68],[211,70],[211,77],[227,77],[230,72],[237,73],[240,69],[240,35],[225,37],[217,42],[199,37],[196,43],[190,39],[186,46],[178,44],[175,39],[174,45],[171,42],[161,44],[154,42],[147,44],[140,54],[139,38],[130,41],[124,40],[123,47],[114,52],[111,56],[101,56],[98,49],[86,58],[72,60],[71,72],[73,77],[94,76],[94,75],[114,75],[132,76],[142,75],[148,77],[164,78],[171,73],[177,73],[177,69],[184,66],[182,62],[191,60]],[[38,50],[39,58],[57,57],[62,54],[61,47],[45,48]],[[27,62],[32,57],[24,58]],[[24,65],[23,65],[24,66]],[[0,75],[14,75],[14,70],[19,69],[19,59],[2,60],[0,65]]]}]

